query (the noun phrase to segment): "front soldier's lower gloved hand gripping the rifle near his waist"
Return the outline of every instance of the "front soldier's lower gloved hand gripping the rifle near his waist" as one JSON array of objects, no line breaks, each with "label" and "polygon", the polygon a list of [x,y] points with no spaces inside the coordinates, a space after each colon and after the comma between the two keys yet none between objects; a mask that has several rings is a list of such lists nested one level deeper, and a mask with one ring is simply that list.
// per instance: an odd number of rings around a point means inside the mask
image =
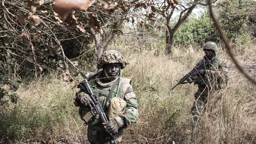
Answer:
[{"label": "front soldier's lower gloved hand gripping the rifle near his waist", "polygon": [[118,116],[114,119],[108,120],[107,123],[103,123],[103,126],[110,135],[116,135],[119,128],[123,127],[123,124],[123,119],[120,116]]}]

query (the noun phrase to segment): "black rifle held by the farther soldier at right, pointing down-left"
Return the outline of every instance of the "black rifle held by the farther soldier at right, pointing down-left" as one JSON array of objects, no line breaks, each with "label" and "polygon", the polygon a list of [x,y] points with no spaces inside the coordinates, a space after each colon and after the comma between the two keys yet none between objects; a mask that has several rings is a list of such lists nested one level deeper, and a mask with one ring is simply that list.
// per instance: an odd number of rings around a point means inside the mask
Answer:
[{"label": "black rifle held by the farther soldier at right, pointing down-left", "polygon": [[190,77],[193,78],[193,81],[191,82],[199,81],[199,79],[201,79],[199,75],[199,70],[204,69],[205,66],[210,65],[214,60],[215,60],[215,57],[213,57],[211,60],[201,60],[201,62],[198,63],[196,66],[194,66],[194,68],[190,72],[188,72],[187,75],[183,76],[183,78],[180,79],[178,84],[172,87],[171,90],[177,87],[177,85],[187,84],[188,83],[187,79]]}]

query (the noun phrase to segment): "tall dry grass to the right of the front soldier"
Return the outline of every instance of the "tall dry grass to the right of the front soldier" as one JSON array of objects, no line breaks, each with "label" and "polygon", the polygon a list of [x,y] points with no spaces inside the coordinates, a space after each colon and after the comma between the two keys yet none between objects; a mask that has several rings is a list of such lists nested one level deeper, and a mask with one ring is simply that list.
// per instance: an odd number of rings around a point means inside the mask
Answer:
[{"label": "tall dry grass to the right of the front soldier", "polygon": [[[242,66],[255,60],[253,47],[248,46],[242,55],[236,52]],[[140,104],[139,120],[126,130],[124,142],[190,143],[190,111],[197,87],[191,84],[170,89],[203,56],[200,47],[174,49],[171,57],[152,51],[134,54],[129,46],[111,48],[126,55],[130,64],[123,75],[133,79]],[[223,50],[218,55],[229,64],[229,84],[222,89],[217,117],[213,117],[216,115],[213,111],[205,111],[200,117],[193,143],[255,143],[256,87],[237,71]],[[244,56],[248,59],[242,62]]]}]

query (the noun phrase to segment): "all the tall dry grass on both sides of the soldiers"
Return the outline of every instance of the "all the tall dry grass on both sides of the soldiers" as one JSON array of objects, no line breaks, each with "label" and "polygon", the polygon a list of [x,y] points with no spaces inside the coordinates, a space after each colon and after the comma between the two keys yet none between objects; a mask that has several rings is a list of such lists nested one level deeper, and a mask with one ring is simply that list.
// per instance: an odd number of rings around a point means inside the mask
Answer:
[{"label": "all the tall dry grass on both sides of the soldiers", "polygon": [[[177,48],[172,56],[165,56],[161,41],[152,39],[149,45],[159,49],[138,52],[133,38],[120,38],[119,43],[108,47],[119,50],[129,62],[122,75],[132,78],[140,105],[139,118],[125,130],[123,143],[190,143],[190,111],[197,87],[185,84],[170,89],[196,65],[203,52],[200,47]],[[219,55],[228,60],[229,84],[222,89],[217,117],[213,111],[200,117],[194,143],[255,143],[255,85],[233,67],[225,52],[220,50]],[[251,62],[255,49],[248,47],[242,56],[236,56],[240,62],[243,56]],[[72,86],[55,73],[52,78],[23,85],[18,90],[20,104],[1,108],[0,133],[5,141],[0,142],[86,143],[87,127],[73,105],[76,89]]]}]

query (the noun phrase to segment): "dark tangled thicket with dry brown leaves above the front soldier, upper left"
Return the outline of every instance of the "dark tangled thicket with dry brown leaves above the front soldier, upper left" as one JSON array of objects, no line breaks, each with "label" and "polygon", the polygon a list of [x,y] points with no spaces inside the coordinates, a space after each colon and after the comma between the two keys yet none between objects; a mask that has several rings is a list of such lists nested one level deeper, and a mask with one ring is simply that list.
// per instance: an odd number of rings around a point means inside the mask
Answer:
[{"label": "dark tangled thicket with dry brown leaves above the front soldier, upper left", "polygon": [[[2,2],[1,56],[9,53],[15,60],[16,69],[10,71],[15,76],[32,79],[48,70],[70,71],[69,75],[85,71],[85,64],[99,58],[114,34],[122,33],[121,25],[130,21],[129,12],[136,1],[117,1],[114,5],[107,0],[104,5],[93,1],[91,7],[84,7],[88,1],[56,2],[67,2],[60,4],[59,10],[55,7],[59,14],[53,11],[52,1]],[[96,49],[89,47],[92,40]]]}]

